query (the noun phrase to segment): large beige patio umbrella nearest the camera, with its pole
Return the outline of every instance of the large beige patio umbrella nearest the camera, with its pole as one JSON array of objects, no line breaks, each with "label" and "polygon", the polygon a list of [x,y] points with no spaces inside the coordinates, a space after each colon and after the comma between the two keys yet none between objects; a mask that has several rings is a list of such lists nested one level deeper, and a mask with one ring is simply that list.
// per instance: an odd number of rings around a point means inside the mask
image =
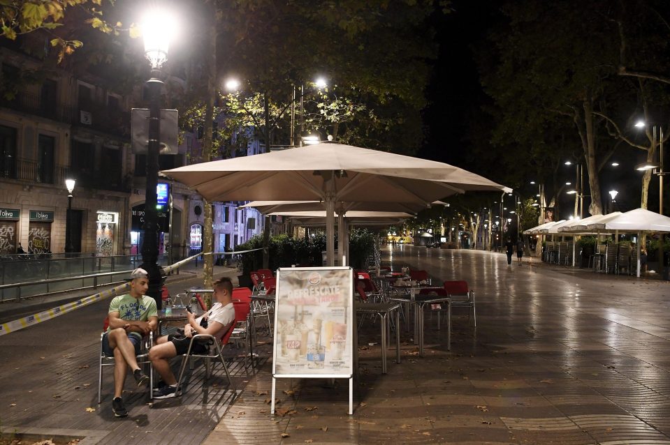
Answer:
[{"label": "large beige patio umbrella nearest the camera, with its pole", "polygon": [[208,201],[325,202],[329,265],[335,259],[338,201],[428,204],[470,190],[511,191],[453,165],[336,143],[215,160],[163,173]]}]

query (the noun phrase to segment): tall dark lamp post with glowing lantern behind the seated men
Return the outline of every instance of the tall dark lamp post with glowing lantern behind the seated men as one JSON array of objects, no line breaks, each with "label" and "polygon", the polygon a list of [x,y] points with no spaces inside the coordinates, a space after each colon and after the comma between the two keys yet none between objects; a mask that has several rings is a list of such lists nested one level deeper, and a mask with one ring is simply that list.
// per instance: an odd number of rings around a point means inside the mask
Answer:
[{"label": "tall dark lamp post with glowing lantern behind the seated men", "polygon": [[161,146],[161,66],[168,59],[168,45],[173,24],[166,15],[152,11],[143,23],[145,56],[151,62],[151,78],[146,86],[149,92],[149,144],[147,146],[147,186],[145,195],[144,241],[142,243],[142,268],[149,273],[147,295],[156,300],[161,309],[161,287],[165,278],[158,260],[158,211],[156,187],[158,185],[158,156]]}]

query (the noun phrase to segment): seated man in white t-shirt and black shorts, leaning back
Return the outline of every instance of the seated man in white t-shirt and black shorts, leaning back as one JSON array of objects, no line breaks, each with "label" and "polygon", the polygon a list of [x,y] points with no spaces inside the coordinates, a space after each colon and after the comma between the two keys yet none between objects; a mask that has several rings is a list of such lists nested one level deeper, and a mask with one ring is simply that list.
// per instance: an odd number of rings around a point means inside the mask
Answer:
[{"label": "seated man in white t-shirt and black shorts, leaning back", "polygon": [[[166,399],[177,394],[177,379],[170,368],[170,359],[177,355],[186,354],[191,344],[191,338],[196,334],[210,334],[221,338],[235,323],[235,307],[233,306],[233,283],[230,278],[220,278],[214,282],[214,300],[212,309],[201,317],[188,313],[189,323],[184,326],[183,335],[163,335],[156,340],[156,345],[149,351],[149,359],[154,370],[161,375],[165,386],[154,391],[154,399]],[[201,325],[207,320],[206,328]],[[197,340],[191,348],[191,353],[201,354],[207,351],[207,346]]]}]

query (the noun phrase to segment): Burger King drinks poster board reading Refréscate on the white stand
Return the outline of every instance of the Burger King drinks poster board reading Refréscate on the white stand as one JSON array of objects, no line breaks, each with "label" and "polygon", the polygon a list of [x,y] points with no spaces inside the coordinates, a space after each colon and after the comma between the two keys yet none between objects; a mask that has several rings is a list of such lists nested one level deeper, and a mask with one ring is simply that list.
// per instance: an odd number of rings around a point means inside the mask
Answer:
[{"label": "Burger King drinks poster board reading Refr\u00e9scate on the white stand", "polygon": [[275,377],[351,377],[353,280],[349,267],[279,269]]}]

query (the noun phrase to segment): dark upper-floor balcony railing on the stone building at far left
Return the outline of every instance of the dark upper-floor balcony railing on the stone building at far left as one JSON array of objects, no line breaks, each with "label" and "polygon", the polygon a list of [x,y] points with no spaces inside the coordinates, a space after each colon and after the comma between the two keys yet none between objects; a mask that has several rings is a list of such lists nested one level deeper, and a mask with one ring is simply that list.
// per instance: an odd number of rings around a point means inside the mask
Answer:
[{"label": "dark upper-floor balcony railing on the stone building at far left", "polygon": [[104,104],[90,103],[73,107],[43,100],[35,94],[19,93],[10,100],[0,97],[0,106],[74,126],[92,128],[125,139],[130,138],[130,112],[110,110]]}]

